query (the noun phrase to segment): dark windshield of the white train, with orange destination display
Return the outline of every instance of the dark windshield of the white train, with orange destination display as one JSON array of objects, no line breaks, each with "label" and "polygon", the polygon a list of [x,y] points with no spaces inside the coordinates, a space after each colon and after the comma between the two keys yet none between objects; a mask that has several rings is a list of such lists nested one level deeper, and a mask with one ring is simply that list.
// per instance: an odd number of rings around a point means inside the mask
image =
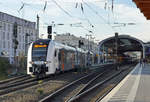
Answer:
[{"label": "dark windshield of the white train, with orange destination display", "polygon": [[32,61],[46,61],[49,41],[38,41],[33,43]]}]

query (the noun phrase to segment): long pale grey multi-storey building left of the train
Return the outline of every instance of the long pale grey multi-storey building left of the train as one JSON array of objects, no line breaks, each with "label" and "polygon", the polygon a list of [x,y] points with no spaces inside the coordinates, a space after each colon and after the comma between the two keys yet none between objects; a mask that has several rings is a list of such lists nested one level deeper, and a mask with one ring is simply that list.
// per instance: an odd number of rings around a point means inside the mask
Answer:
[{"label": "long pale grey multi-storey building left of the train", "polygon": [[39,38],[36,23],[0,12],[0,56],[14,61],[14,24],[17,24],[16,56],[26,54],[30,42]]}]

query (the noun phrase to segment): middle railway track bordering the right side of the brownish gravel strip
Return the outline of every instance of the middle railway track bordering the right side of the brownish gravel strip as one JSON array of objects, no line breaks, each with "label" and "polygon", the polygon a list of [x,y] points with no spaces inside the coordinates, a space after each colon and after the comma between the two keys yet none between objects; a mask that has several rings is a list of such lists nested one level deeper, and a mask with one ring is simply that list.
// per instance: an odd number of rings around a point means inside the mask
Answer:
[{"label": "middle railway track bordering the right side of the brownish gravel strip", "polygon": [[[108,70],[110,71],[111,68]],[[40,102],[64,102],[70,100],[74,95],[78,94],[78,92],[92,83],[94,80],[103,76],[104,73],[107,71],[96,71],[89,75],[86,75],[78,80],[69,83],[68,85],[62,87],[61,89],[55,91],[54,93],[50,94],[48,97],[40,100]]]}]

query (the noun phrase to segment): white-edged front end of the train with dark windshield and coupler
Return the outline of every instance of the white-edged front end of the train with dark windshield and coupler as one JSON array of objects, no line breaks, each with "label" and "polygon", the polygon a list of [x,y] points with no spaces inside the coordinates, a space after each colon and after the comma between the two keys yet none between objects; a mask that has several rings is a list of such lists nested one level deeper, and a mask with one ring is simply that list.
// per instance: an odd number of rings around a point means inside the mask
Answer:
[{"label": "white-edged front end of the train with dark windshield and coupler", "polygon": [[49,43],[50,40],[40,39],[30,45],[27,56],[27,74],[36,77],[46,75]]}]

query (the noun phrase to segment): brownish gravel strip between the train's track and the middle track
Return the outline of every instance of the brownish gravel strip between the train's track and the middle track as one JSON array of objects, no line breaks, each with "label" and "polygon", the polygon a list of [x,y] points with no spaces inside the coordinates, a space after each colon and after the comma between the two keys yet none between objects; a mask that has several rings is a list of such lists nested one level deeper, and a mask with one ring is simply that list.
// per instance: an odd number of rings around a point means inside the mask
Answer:
[{"label": "brownish gravel strip between the train's track and the middle track", "polygon": [[[49,95],[69,82],[87,75],[90,72],[91,71],[87,73],[68,72],[56,77],[53,76],[53,80],[0,96],[0,102],[38,102],[39,99]],[[38,89],[42,90],[43,93],[40,94]]]}]

